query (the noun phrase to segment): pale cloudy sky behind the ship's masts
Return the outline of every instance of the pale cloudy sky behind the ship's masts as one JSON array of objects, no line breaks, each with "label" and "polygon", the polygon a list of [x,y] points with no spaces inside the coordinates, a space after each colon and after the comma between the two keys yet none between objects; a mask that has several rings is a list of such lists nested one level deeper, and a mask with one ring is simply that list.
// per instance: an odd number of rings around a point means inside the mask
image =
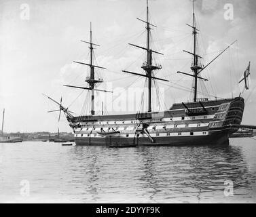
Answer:
[{"label": "pale cloudy sky behind the ship's masts", "polygon": [[[206,65],[230,43],[236,43],[205,69],[201,76],[198,97],[239,96],[238,81],[251,61],[250,90],[242,94],[246,101],[244,124],[256,123],[256,1],[195,1],[198,32],[198,54]],[[175,102],[191,100],[192,24],[191,0],[149,0],[152,49],[162,70],[157,77],[160,91],[153,94],[155,111],[169,109]],[[71,132],[65,116],[58,122],[58,109],[42,93],[60,100],[75,115],[89,111],[88,92],[67,85],[83,85],[89,68],[74,60],[89,61],[90,22],[95,47],[94,64],[105,83],[98,89],[113,94],[96,94],[96,113],[133,113],[140,110],[145,78],[122,73],[122,70],[143,73],[145,51],[128,45],[145,46],[146,0],[0,0],[0,111],[5,109],[5,132]],[[155,62],[155,61],[154,61]],[[206,91],[207,90],[207,91]],[[144,100],[147,102],[147,99]],[[142,106],[141,109],[147,109]]]}]

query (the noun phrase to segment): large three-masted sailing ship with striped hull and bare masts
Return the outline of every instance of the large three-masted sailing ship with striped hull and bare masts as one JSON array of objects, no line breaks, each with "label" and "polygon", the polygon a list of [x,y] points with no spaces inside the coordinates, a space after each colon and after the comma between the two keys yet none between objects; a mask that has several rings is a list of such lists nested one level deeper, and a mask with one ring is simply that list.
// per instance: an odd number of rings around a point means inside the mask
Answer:
[{"label": "large three-masted sailing ship with striped hull and bare masts", "polygon": [[147,52],[147,61],[143,63],[144,74],[131,71],[122,71],[134,76],[145,77],[147,79],[147,112],[120,114],[120,115],[95,115],[94,93],[110,92],[108,90],[98,90],[96,85],[102,83],[103,79],[97,79],[94,74],[96,66],[92,62],[92,52],[94,46],[92,42],[92,28],[90,27],[90,41],[84,41],[90,45],[90,63],[77,62],[90,67],[90,77],[86,79],[88,87],[65,85],[67,87],[88,90],[91,93],[90,115],[74,116],[65,106],[56,100],[48,98],[58,104],[61,111],[65,113],[67,121],[73,130],[75,143],[77,145],[103,145],[103,146],[177,146],[177,145],[225,145],[229,144],[229,138],[242,126],[242,116],[244,112],[244,98],[221,98],[210,100],[208,98],[198,98],[198,79],[207,81],[200,76],[201,72],[211,64],[206,66],[200,64],[201,56],[197,54],[196,43],[198,28],[196,26],[194,1],[193,1],[193,24],[194,50],[186,53],[194,57],[191,66],[193,74],[178,72],[189,77],[194,77],[194,100],[191,102],[180,102],[172,104],[170,109],[158,113],[151,109],[151,88],[152,81],[166,81],[155,76],[155,71],[161,70],[162,66],[153,63],[153,55],[162,55],[160,52],[151,50],[150,32],[153,24],[149,22],[149,5],[147,1],[147,19],[141,20],[146,24],[147,45],[145,47],[131,44]]}]

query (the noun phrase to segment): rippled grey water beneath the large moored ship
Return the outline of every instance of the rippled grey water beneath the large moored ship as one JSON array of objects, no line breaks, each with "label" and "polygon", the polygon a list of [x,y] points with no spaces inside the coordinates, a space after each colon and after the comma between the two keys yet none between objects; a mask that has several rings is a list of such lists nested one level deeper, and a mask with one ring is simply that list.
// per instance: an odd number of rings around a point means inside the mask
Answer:
[{"label": "rippled grey water beneath the large moored ship", "polygon": [[[255,203],[256,140],[230,143],[124,149],[0,144],[0,202]],[[234,196],[224,195],[226,180],[234,183]],[[24,183],[29,195],[22,193]]]}]

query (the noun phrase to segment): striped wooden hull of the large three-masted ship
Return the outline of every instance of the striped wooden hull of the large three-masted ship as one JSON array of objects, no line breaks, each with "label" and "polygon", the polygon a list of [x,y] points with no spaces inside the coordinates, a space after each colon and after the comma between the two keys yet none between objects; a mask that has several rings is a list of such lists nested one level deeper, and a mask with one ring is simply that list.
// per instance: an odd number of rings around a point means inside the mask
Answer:
[{"label": "striped wooden hull of the large three-masted ship", "polygon": [[[74,125],[77,145],[228,145],[229,137],[238,130],[231,125],[240,125],[243,109],[244,99],[234,98],[188,102],[185,106],[174,104],[164,113],[144,113],[141,117],[109,115],[79,117],[69,121]],[[120,135],[98,135],[100,128],[105,132],[119,130]]]}]

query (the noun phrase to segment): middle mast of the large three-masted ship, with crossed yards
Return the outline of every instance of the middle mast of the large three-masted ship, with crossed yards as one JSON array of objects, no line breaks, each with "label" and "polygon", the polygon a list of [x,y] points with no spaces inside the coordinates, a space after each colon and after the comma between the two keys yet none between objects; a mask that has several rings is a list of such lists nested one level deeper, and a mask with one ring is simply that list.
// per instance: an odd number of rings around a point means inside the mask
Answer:
[{"label": "middle mast of the large three-masted ship, with crossed yards", "polygon": [[[151,112],[152,111],[152,109],[151,109],[151,85],[152,85],[152,79],[158,79],[158,80],[161,80],[161,81],[167,81],[167,80],[160,79],[160,78],[152,76],[153,75],[153,71],[161,69],[162,66],[153,66],[152,65],[152,53],[155,53],[155,54],[161,54],[161,53],[153,51],[150,48],[150,31],[151,31],[151,27],[150,26],[154,26],[154,25],[149,22],[149,4],[148,4],[148,0],[147,0],[147,21],[141,20],[139,18],[137,18],[137,19],[146,23],[147,47],[141,47],[141,46],[134,45],[134,44],[131,44],[131,43],[129,43],[129,45],[132,45],[134,47],[139,47],[139,48],[147,51],[147,62],[145,62],[143,64],[143,66],[141,67],[141,68],[144,69],[146,75],[139,74],[139,73],[132,73],[130,71],[122,71],[122,72],[130,73],[130,74],[133,74],[133,75],[139,75],[139,76],[147,77],[147,79],[148,79],[148,92],[149,92],[149,95],[148,95],[148,109],[147,109],[147,111]],[[154,26],[154,27],[156,27],[156,26]],[[164,54],[161,54],[161,55],[164,55]]]}]

